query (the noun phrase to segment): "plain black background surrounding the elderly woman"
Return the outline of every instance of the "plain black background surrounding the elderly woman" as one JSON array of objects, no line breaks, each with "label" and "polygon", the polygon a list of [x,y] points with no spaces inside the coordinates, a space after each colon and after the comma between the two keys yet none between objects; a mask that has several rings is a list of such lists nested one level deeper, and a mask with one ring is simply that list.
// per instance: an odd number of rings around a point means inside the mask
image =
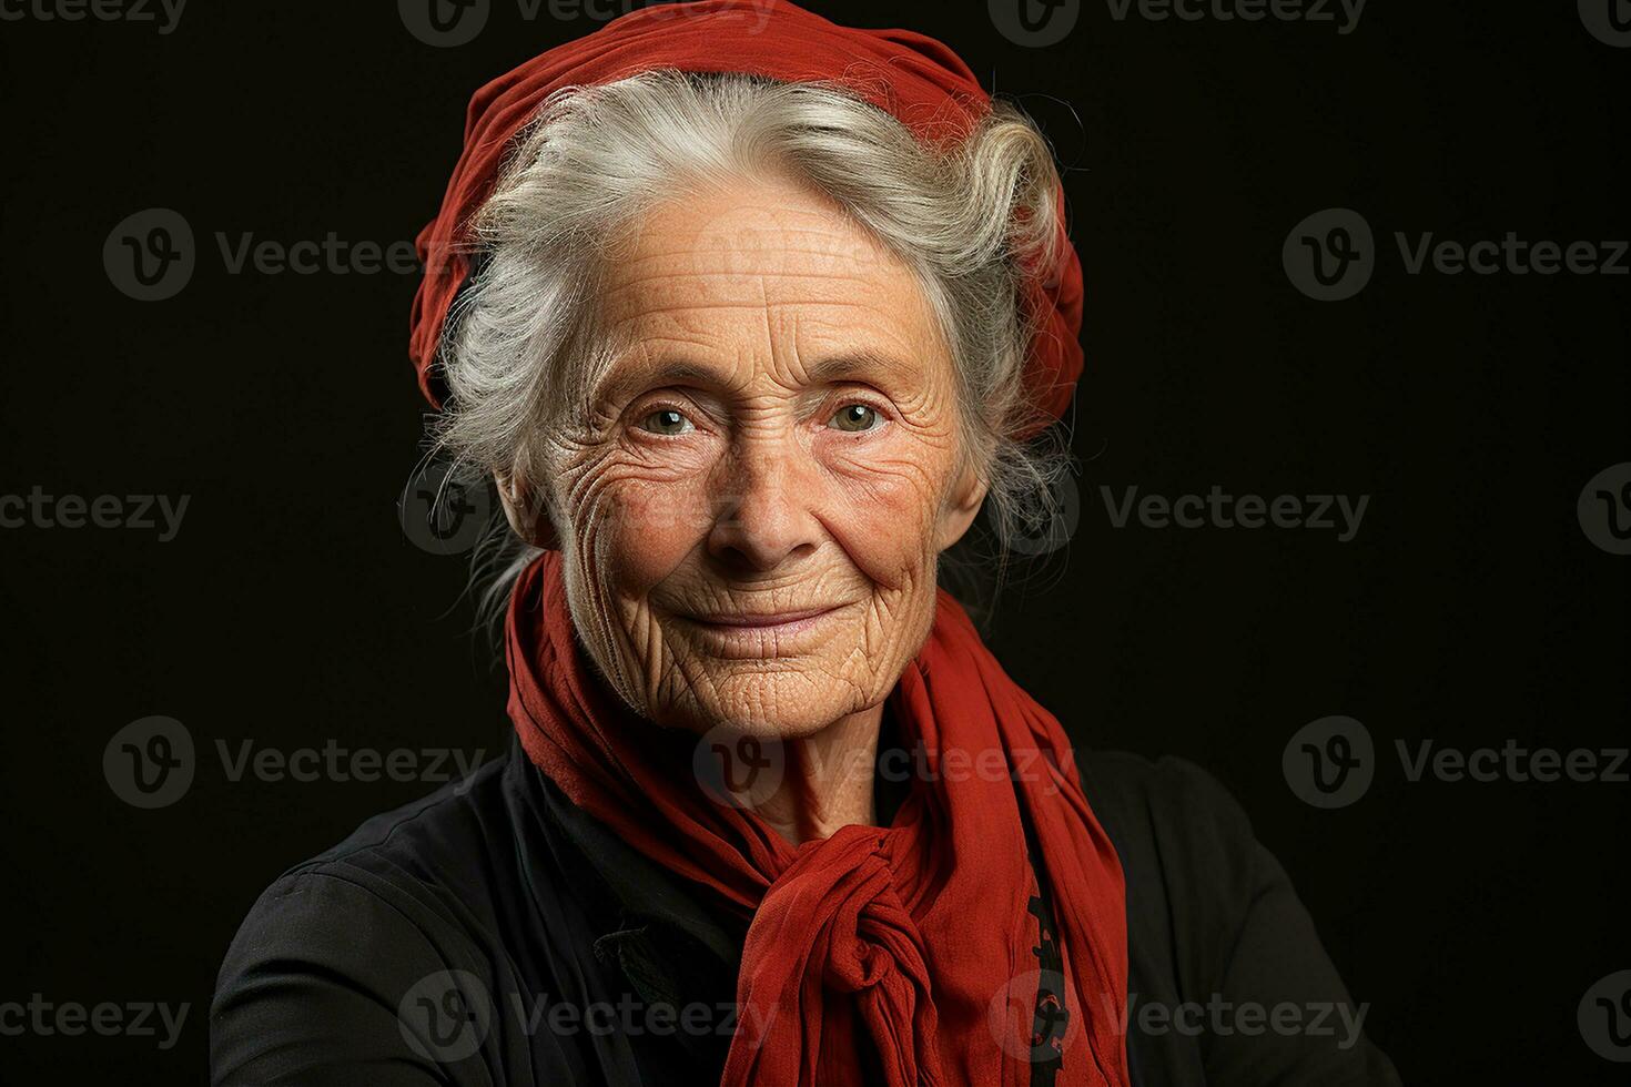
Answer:
[{"label": "plain black background surrounding the elderly woman", "polygon": [[[1409,782],[1393,743],[1626,743],[1631,557],[1587,539],[1576,499],[1631,460],[1631,277],[1409,275],[1393,231],[1631,236],[1631,49],[1572,3],[1373,0],[1339,34],[1096,0],[1050,47],[998,34],[983,3],[809,7],[946,39],[1070,168],[1081,523],[1006,590],[998,657],[1078,743],[1181,755],[1235,792],[1406,1082],[1624,1082],[1576,1009],[1631,966],[1631,784]],[[0,494],[191,495],[170,543],[0,530],[0,1001],[192,1006],[170,1051],[0,1038],[5,1082],[201,1082],[215,968],[259,890],[434,787],[233,782],[217,740],[507,738],[466,564],[398,525],[414,275],[232,275],[214,238],[413,238],[468,95],[597,24],[496,0],[473,42],[432,47],[393,8],[196,3],[170,34],[0,21]],[[101,254],[148,207],[186,217],[197,269],[142,303]],[[1328,207],[1378,244],[1339,303],[1280,261]],[[1099,492],[1213,484],[1372,500],[1337,543],[1117,530]],[[184,722],[201,763],[179,802],[137,810],[101,759],[152,714]],[[1362,800],[1318,810],[1280,756],[1331,714],[1368,727],[1378,768]]]}]

